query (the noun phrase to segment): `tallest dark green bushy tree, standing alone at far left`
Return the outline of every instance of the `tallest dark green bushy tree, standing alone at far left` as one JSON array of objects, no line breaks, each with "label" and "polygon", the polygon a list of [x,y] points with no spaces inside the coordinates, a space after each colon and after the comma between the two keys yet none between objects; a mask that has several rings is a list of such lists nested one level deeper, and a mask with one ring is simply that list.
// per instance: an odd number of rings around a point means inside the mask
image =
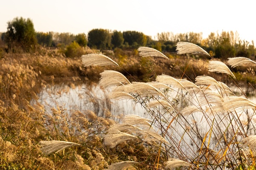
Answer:
[{"label": "tallest dark green bushy tree, standing alone at far left", "polygon": [[35,48],[37,39],[32,20],[16,17],[7,24],[5,41],[9,47],[11,45],[20,46],[26,51]]}]

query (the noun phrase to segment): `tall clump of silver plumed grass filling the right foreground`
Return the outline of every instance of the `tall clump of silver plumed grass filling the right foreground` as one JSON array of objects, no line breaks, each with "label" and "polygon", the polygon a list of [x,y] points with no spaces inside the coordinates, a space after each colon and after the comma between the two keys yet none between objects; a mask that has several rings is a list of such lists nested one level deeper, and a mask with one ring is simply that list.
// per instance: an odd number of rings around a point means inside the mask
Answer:
[{"label": "tall clump of silver plumed grass filling the right foreground", "polygon": [[[142,57],[168,59],[152,48],[140,47],[138,51]],[[210,56],[189,42],[177,43],[177,51],[178,54]],[[94,61],[96,65],[119,66],[99,54],[85,55],[82,60],[84,66],[93,65]],[[228,63],[231,67],[255,64],[245,58],[230,58]],[[223,78],[238,85],[235,75],[224,62],[213,59],[209,62],[209,71],[221,73]],[[244,96],[236,96],[226,84],[209,76],[199,75],[195,82],[186,80],[189,77],[185,71],[184,77],[163,74],[157,76],[155,82],[130,83],[114,71],[104,71],[101,75],[100,85],[112,88],[110,98],[134,100],[151,116],[151,120],[126,116],[122,123],[112,125],[107,131],[105,145],[112,148],[130,141],[156,148],[157,155],[150,163],[155,169],[245,170],[256,166],[253,136],[256,133],[256,105],[244,93]],[[134,162],[114,165],[121,168],[130,164]],[[110,169],[114,167],[112,165]]]}]

